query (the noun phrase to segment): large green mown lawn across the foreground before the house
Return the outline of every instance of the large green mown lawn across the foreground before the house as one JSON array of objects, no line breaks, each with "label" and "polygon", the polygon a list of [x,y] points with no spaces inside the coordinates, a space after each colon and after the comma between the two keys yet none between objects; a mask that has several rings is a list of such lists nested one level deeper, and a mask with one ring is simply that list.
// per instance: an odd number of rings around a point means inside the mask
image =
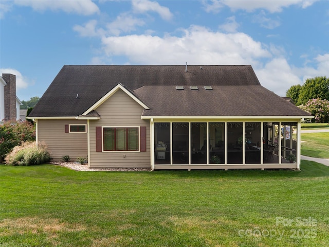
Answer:
[{"label": "large green mown lawn across the foreground before the house", "polygon": [[1,246],[328,246],[329,167],[0,166]]}]

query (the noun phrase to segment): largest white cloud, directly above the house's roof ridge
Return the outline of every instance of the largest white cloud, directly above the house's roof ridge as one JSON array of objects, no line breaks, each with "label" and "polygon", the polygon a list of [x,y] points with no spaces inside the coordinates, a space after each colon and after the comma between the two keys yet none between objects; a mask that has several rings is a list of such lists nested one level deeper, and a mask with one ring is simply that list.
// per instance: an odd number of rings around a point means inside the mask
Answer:
[{"label": "largest white cloud, directly above the house's roof ridge", "polygon": [[[257,64],[270,52],[245,33],[224,34],[192,26],[182,37],[130,35],[102,38],[107,56],[139,64]],[[170,53],[169,53],[170,51]]]}]

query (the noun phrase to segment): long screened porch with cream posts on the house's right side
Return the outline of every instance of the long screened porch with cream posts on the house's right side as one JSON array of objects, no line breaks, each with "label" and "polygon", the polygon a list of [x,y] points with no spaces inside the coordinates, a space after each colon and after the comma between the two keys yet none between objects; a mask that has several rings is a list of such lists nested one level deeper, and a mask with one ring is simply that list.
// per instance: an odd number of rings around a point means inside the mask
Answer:
[{"label": "long screened porch with cream posts on the house's right side", "polygon": [[153,168],[299,169],[299,128],[297,121],[154,122]]}]

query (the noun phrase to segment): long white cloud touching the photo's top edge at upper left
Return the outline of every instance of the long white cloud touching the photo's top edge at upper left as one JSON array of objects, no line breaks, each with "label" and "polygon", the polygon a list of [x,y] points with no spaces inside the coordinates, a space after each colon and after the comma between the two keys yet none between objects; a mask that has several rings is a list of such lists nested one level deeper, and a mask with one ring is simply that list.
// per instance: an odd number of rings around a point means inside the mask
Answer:
[{"label": "long white cloud touching the photo's top edge at upper left", "polygon": [[92,0],[16,0],[16,5],[31,7],[35,11],[62,10],[67,13],[92,15],[100,13],[98,6]]}]

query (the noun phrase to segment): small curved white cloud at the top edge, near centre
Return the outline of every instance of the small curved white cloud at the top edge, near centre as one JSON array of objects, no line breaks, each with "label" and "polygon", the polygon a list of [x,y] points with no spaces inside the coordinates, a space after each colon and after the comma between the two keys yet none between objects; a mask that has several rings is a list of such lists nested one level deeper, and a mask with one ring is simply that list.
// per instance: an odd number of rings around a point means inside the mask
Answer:
[{"label": "small curved white cloud at the top edge, near centre", "polygon": [[159,5],[157,2],[149,0],[133,0],[133,10],[137,13],[145,13],[148,11],[153,11],[158,13],[163,20],[171,20],[173,14],[170,12],[169,8]]}]

